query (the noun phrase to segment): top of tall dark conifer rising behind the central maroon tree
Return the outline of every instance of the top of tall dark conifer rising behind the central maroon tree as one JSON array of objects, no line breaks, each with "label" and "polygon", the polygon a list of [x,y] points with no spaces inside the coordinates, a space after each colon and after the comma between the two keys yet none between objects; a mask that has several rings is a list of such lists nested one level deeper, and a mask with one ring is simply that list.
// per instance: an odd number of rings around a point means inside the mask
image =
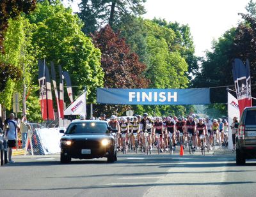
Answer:
[{"label": "top of tall dark conifer rising behind the central maroon tree", "polygon": [[145,13],[143,3],[146,0],[82,0],[79,4],[79,17],[85,23],[84,33],[93,33],[109,24],[111,27],[120,22],[120,18]]}]

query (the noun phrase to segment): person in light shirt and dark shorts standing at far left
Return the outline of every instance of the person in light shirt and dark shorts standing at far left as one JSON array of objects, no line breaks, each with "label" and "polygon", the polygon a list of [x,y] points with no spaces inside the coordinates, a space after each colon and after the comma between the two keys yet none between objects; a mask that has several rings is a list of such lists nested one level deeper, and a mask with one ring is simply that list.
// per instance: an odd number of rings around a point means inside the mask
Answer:
[{"label": "person in light shirt and dark shorts standing at far left", "polygon": [[17,128],[19,127],[14,119],[14,113],[10,114],[10,119],[7,120],[6,125],[6,139],[8,140],[8,159],[9,163],[14,163],[12,160],[12,148],[16,145],[17,140]]}]

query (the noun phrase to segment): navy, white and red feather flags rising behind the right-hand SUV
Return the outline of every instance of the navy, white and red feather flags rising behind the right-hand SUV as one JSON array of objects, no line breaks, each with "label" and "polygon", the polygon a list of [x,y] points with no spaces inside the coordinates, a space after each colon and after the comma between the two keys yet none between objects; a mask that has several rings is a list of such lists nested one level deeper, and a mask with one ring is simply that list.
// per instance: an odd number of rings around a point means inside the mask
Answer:
[{"label": "navy, white and red feather flags rising behind the right-hand SUV", "polygon": [[249,61],[246,60],[246,65],[244,66],[241,59],[235,59],[233,62],[232,73],[236,87],[239,111],[240,115],[242,115],[243,110],[246,106],[252,106]]}]

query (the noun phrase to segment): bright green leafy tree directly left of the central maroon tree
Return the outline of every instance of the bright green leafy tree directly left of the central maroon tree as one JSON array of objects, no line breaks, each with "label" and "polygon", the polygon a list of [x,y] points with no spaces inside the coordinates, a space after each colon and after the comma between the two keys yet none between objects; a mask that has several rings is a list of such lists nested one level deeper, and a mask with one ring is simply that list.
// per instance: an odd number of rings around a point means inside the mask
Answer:
[{"label": "bright green leafy tree directly left of the central maroon tree", "polygon": [[33,43],[38,46],[36,57],[53,61],[55,66],[61,65],[70,73],[72,85],[77,86],[73,94],[79,94],[86,86],[88,101],[95,101],[92,90],[102,86],[104,73],[100,67],[100,50],[81,31],[83,22],[58,1],[38,4],[28,18],[36,24],[33,33]]}]

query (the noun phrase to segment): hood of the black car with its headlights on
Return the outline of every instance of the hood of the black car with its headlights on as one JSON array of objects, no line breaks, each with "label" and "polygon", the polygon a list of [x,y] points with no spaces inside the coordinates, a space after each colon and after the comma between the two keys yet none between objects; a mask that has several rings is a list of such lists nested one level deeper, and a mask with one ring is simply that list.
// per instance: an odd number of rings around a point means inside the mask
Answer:
[{"label": "hood of the black car with its headlights on", "polygon": [[109,135],[109,134],[104,134],[104,133],[79,133],[79,134],[67,134],[67,135],[63,135],[61,137],[61,139],[65,139],[65,140],[72,140],[72,139],[90,139],[90,140],[100,140],[100,139],[106,139],[106,138],[112,138],[113,136]]}]

